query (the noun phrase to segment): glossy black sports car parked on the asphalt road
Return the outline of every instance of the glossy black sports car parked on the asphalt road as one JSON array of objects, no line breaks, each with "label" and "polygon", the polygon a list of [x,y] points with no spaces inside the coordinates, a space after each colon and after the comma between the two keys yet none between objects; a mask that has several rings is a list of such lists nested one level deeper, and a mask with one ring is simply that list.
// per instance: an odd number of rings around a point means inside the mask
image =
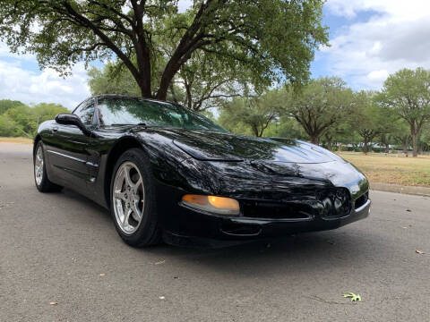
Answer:
[{"label": "glossy black sports car parked on the asphalt road", "polygon": [[257,139],[173,103],[103,95],[40,124],[39,191],[110,209],[125,242],[228,245],[340,227],[369,214],[364,174],[300,140]]}]

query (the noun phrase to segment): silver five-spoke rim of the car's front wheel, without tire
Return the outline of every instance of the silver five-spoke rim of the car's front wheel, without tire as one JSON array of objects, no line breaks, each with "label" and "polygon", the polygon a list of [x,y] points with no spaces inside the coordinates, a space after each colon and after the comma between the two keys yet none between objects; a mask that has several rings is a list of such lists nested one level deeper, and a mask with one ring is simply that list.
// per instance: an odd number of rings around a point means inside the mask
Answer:
[{"label": "silver five-spoke rim of the car's front wheel, without tire", "polygon": [[142,174],[133,162],[123,163],[116,171],[112,199],[116,223],[124,233],[134,233],[142,222],[145,190]]}]

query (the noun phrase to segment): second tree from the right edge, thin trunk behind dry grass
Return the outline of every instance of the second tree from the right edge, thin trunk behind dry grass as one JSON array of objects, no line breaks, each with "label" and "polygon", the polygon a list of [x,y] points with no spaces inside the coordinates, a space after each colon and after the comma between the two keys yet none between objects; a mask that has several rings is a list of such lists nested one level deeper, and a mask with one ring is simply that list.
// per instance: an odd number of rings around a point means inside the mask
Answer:
[{"label": "second tree from the right edge, thin trunk behind dry grass", "polygon": [[367,153],[369,143],[375,137],[393,131],[393,118],[375,99],[376,93],[361,90],[354,94],[354,108],[350,114],[352,128],[363,140],[363,152]]}]

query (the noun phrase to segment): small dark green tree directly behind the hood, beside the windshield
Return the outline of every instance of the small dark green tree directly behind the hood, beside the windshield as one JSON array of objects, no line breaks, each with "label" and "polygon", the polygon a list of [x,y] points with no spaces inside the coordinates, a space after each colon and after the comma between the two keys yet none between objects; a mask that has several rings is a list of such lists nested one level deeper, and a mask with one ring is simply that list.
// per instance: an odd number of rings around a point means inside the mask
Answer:
[{"label": "small dark green tree directly behind the hood, beside the windshield", "polygon": [[257,138],[275,121],[283,104],[282,91],[273,89],[261,97],[238,97],[222,107],[219,123],[234,131],[245,125]]}]

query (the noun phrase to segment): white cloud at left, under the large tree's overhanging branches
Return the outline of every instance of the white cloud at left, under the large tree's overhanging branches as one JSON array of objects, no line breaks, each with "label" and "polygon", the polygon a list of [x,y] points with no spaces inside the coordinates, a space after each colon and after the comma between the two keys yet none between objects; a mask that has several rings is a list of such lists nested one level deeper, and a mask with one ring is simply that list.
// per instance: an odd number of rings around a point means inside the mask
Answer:
[{"label": "white cloud at left, under the large tree's overhanging branches", "polygon": [[21,100],[26,104],[58,103],[72,109],[90,96],[83,64],[73,68],[72,76],[62,78],[52,69],[32,72],[20,61],[10,63],[0,57],[0,99]]}]

